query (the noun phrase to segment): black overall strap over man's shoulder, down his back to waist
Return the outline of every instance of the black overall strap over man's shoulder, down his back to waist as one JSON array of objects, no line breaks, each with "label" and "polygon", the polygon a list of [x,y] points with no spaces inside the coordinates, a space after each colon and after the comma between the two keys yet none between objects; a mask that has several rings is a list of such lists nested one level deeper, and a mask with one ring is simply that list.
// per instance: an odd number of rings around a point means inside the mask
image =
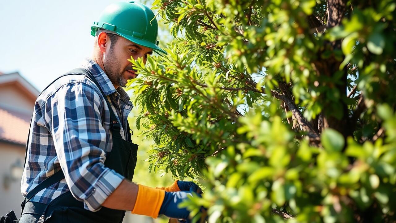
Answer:
[{"label": "black overall strap over man's shoulder, down his back to waist", "polygon": [[[118,119],[116,117],[116,115],[114,114],[109,101],[107,100],[107,97],[105,96],[105,94],[103,93],[103,90],[101,89],[99,83],[96,81],[95,77],[87,70],[84,68],[76,68],[73,69],[71,71],[69,71],[68,73],[65,73],[59,77],[57,77],[54,81],[52,81],[46,88],[44,88],[44,90],[46,90],[50,85],[52,85],[57,79],[67,76],[67,75],[86,75],[89,79],[91,79],[91,81],[93,81],[93,83],[95,83],[95,85],[99,88],[99,90],[101,91],[101,93],[103,94],[103,96],[105,97],[105,100],[107,102],[107,105],[109,106],[109,111],[110,111],[110,127],[112,127],[112,133],[114,134],[120,134],[120,124],[118,123]],[[42,92],[44,92],[44,90]],[[41,93],[42,93],[41,92]],[[41,95],[40,93],[40,95]],[[40,96],[39,95],[39,96]],[[25,169],[26,166],[26,160],[27,160],[27,152],[28,152],[28,146],[29,146],[29,137],[30,137],[30,127],[32,125],[32,120],[33,117],[30,119],[30,125],[29,125],[29,134],[28,134],[28,138],[27,138],[27,143],[26,143],[26,150],[25,150],[25,163],[23,166],[23,169]],[[116,131],[116,129],[118,129],[118,131]],[[44,181],[42,181],[40,184],[38,184],[36,187],[34,187],[29,193],[27,193],[25,200],[23,200],[21,206],[22,206],[22,210],[21,210],[21,214],[23,213],[23,208],[25,208],[25,204],[34,196],[36,195],[38,192],[40,192],[41,190],[43,190],[44,188],[47,188],[51,185],[53,185],[54,183],[57,183],[58,181],[61,181],[62,179],[65,178],[65,175],[63,173],[62,170],[56,172],[54,175],[52,175],[51,177],[48,177],[47,179],[45,179]]]}]

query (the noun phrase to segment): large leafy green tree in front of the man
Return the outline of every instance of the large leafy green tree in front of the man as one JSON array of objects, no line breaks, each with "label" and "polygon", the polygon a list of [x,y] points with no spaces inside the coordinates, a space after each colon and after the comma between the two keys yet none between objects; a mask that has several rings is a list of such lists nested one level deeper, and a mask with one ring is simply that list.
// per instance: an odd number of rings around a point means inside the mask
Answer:
[{"label": "large leafy green tree in front of the man", "polygon": [[150,170],[209,222],[392,222],[394,0],[156,0],[175,40],[130,87]]}]

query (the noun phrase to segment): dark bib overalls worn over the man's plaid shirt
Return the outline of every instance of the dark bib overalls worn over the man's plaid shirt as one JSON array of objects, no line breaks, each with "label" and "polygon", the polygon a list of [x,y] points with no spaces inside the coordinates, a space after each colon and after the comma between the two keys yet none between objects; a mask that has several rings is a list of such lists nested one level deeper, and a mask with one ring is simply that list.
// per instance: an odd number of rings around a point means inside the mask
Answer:
[{"label": "dark bib overalls worn over the man's plaid shirt", "polygon": [[[69,73],[62,75],[86,75],[91,79],[101,90],[103,91],[99,84],[97,83],[95,77],[86,69],[77,68]],[[127,123],[128,129],[128,141],[122,139],[120,135],[120,123],[114,114],[110,103],[107,100],[105,94],[103,94],[110,111],[110,131],[112,133],[112,150],[107,152],[105,166],[113,169],[120,175],[124,176],[129,181],[132,181],[133,171],[136,166],[136,155],[137,155],[137,144],[131,142],[131,134],[129,129],[129,124]],[[29,141],[29,140],[28,140]],[[25,160],[26,163],[26,160]],[[102,207],[99,211],[92,212],[84,209],[83,202],[76,200],[69,192],[66,192],[59,197],[55,198],[48,205],[38,202],[30,202],[29,199],[34,196],[40,190],[56,183],[64,178],[62,171],[58,171],[53,176],[49,177],[40,185],[36,186],[29,194],[27,194],[26,199],[22,203],[22,216],[19,219],[20,223],[25,222],[46,222],[46,223],[120,223],[124,218],[125,211],[114,210],[110,208]]]}]

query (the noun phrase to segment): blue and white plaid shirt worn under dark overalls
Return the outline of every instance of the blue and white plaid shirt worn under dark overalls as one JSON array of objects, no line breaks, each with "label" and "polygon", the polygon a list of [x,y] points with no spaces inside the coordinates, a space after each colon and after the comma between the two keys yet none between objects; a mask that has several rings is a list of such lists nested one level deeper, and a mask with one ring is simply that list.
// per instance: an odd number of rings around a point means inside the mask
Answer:
[{"label": "blue and white plaid shirt worn under dark overalls", "polygon": [[[128,94],[114,88],[105,72],[86,58],[82,65],[97,79],[111,101],[114,113],[122,117],[123,138],[132,103]],[[21,192],[24,196],[39,183],[63,171],[65,179],[38,192],[31,201],[48,204],[71,190],[84,208],[98,211],[124,179],[104,166],[106,151],[112,148],[110,113],[99,88],[83,75],[59,78],[37,98],[30,125],[27,163]]]}]

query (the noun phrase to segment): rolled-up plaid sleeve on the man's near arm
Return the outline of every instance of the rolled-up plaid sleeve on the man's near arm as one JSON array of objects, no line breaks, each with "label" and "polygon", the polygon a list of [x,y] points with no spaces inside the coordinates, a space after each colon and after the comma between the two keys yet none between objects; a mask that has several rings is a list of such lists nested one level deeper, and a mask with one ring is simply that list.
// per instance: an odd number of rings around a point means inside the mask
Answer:
[{"label": "rolled-up plaid sleeve on the man's near arm", "polygon": [[101,101],[93,87],[73,83],[63,85],[49,97],[45,109],[67,186],[90,211],[100,210],[124,179],[104,165],[108,139]]}]

